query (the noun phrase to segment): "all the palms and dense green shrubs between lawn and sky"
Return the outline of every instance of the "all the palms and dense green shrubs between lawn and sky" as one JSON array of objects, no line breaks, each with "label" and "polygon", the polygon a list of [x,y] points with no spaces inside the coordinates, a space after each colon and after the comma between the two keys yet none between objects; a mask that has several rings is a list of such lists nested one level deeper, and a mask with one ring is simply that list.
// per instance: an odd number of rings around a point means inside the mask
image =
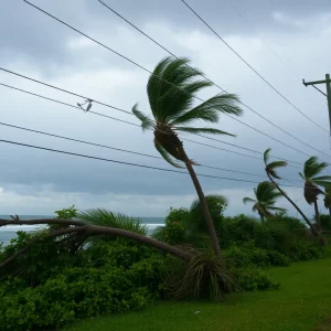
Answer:
[{"label": "all the palms and dense green shrubs between lawn and sky", "polygon": [[[278,171],[288,164],[271,160],[270,149],[264,152],[264,166],[261,162],[268,181],[258,183],[254,197],[243,199],[244,204],[253,204],[260,220],[228,216],[226,207],[232,202],[226,196],[203,192],[194,169],[199,163],[189,158],[179,134],[234,137],[217,128],[191,125],[216,124],[221,114],[239,116],[242,109],[238,97],[225,93],[196,105],[196,94],[212,83],[189,63],[188,58],[163,58],[147,85],[152,116],[138,110],[137,104],[132,113],[142,130],[153,130],[153,145],[162,158],[173,167],[186,168],[197,197],[190,206],[170,209],[164,226],[151,235],[140,220],[107,209],[71,206],[56,211],[54,218],[22,221],[15,215],[0,220],[0,227],[42,225],[34,233],[19,232],[9,245],[0,246],[3,330],[58,329],[83,318],[140,310],[159,300],[264,298],[264,293],[252,292],[267,290],[267,296],[277,298],[285,277],[279,282],[270,277],[270,268],[295,269],[293,263],[329,256],[331,177],[324,173],[328,164],[317,157],[309,158],[300,172],[314,220],[282,189]],[[319,195],[323,195],[328,215],[320,213]],[[306,224],[287,214],[281,199]],[[299,284],[300,277],[296,279]]]}]

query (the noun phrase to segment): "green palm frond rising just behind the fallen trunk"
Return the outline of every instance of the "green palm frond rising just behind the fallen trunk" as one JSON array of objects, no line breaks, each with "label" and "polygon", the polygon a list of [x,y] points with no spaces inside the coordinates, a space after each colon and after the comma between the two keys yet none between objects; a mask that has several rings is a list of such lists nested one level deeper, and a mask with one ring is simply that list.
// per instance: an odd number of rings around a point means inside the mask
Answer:
[{"label": "green palm frond rising just behind the fallen trunk", "polygon": [[147,234],[147,227],[140,220],[125,214],[113,213],[105,209],[93,209],[77,214],[77,218],[86,224],[122,228],[139,234]]}]

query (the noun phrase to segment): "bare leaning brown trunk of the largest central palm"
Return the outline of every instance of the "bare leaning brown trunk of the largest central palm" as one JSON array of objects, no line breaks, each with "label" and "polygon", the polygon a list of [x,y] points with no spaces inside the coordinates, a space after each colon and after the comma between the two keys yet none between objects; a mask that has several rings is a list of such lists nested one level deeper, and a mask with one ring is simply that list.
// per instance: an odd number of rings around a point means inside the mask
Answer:
[{"label": "bare leaning brown trunk of the largest central palm", "polygon": [[205,221],[205,224],[206,224],[206,227],[207,227],[211,241],[212,241],[214,253],[215,253],[215,255],[220,256],[221,255],[221,248],[220,248],[218,237],[216,235],[214,222],[212,220],[210,209],[209,209],[209,205],[207,205],[206,200],[204,197],[204,194],[203,194],[202,188],[200,185],[199,179],[195,174],[195,171],[194,171],[194,169],[191,164],[191,161],[190,161],[189,157],[185,153],[185,150],[182,146],[182,142],[180,142],[179,149],[180,149],[181,154],[184,157],[185,166],[186,166],[188,171],[191,175],[192,182],[194,184],[195,191],[196,191],[199,200],[201,202],[201,207],[202,207],[204,221]]}]

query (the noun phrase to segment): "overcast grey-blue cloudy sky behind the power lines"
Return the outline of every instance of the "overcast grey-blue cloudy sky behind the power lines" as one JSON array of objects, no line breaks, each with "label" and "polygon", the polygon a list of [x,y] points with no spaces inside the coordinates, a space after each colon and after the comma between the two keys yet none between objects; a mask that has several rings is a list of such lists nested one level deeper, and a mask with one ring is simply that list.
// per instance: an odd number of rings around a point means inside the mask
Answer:
[{"label": "overcast grey-blue cloudy sky behind the power lines", "polygon": [[[32,1],[32,0],[31,0]],[[188,56],[192,65],[297,138],[331,156],[328,132],[319,129],[267,86],[228,50],[180,0],[104,0],[126,19],[137,24],[178,56]],[[158,47],[97,0],[42,1],[34,4],[105,43],[115,51],[152,71],[167,52]],[[323,78],[330,72],[331,3],[286,0],[188,0],[224,40],[253,67],[278,88],[299,109],[319,125],[329,128],[325,98],[301,79]],[[238,14],[239,12],[239,14]],[[139,103],[149,113],[146,95],[148,73],[116,54],[88,41],[24,1],[0,2],[0,66],[49,84],[86,95],[103,103],[130,110]],[[266,44],[286,63],[277,58]],[[0,83],[75,105],[83,99],[41,86],[0,71]],[[200,96],[220,90],[212,87]],[[94,105],[93,110],[137,122],[124,113]],[[152,132],[78,109],[53,104],[0,86],[0,120],[11,125],[63,135],[157,156]],[[302,152],[319,153],[288,137],[244,108],[241,118]],[[297,162],[305,154],[291,150],[256,131],[222,117],[220,129],[237,138],[220,139]],[[257,156],[235,147],[200,137],[183,137],[218,148]],[[0,127],[0,139],[62,149],[140,164],[171,169],[163,160],[122,153],[56,138]],[[195,191],[189,175],[132,168],[0,143],[0,214],[52,214],[75,204],[78,209],[107,207],[134,216],[164,216],[170,206],[189,206]],[[236,156],[185,141],[188,153],[200,163],[264,174],[263,161]],[[258,182],[261,178],[197,168],[199,173]],[[298,168],[282,171],[285,178],[302,186]],[[229,200],[228,214],[252,213],[243,196],[252,195],[254,183],[201,178],[205,193],[224,194]],[[302,209],[312,215],[302,189],[287,188]],[[288,207],[284,201],[279,205]],[[322,209],[322,203],[321,203]],[[290,213],[292,209],[289,207]]]}]

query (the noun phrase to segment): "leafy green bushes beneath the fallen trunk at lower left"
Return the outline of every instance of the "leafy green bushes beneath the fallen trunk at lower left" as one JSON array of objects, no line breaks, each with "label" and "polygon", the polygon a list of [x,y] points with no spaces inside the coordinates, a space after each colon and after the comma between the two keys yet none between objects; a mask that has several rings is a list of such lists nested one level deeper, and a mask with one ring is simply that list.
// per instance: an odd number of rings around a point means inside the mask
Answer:
[{"label": "leafy green bushes beneath the fallen trunk at lower left", "polygon": [[[26,276],[2,282],[3,330],[58,328],[77,318],[141,309],[160,297],[166,264],[154,249],[117,239],[98,242],[76,255],[61,267],[61,260],[53,260],[58,273],[41,277],[35,287],[26,284]],[[44,268],[39,265],[34,274]]]}]

